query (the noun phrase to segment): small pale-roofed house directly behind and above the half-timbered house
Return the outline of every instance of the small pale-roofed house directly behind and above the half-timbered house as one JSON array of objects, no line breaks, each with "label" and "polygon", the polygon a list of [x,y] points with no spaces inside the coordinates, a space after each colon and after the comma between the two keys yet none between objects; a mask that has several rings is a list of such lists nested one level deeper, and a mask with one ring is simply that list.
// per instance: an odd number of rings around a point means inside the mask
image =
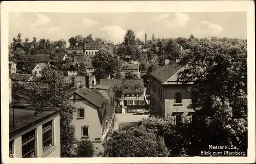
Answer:
[{"label": "small pale-roofed house directly behind and above the half-timbered house", "polygon": [[122,64],[120,74],[122,78],[127,78],[126,73],[132,72],[140,78],[139,64]]}]

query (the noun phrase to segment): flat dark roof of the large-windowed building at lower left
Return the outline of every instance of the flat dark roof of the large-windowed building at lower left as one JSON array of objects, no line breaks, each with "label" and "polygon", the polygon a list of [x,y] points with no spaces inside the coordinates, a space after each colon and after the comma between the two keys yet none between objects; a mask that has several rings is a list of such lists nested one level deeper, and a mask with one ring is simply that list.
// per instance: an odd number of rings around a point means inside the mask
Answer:
[{"label": "flat dark roof of the large-windowed building at lower left", "polygon": [[[18,104],[16,104],[18,105]],[[14,107],[14,113],[12,106],[9,106],[9,134],[10,136],[19,133],[36,122],[41,122],[49,118],[50,116],[59,113],[58,110],[53,110],[52,108],[45,108],[42,112],[38,112],[37,116],[34,115],[35,108],[31,107],[29,104],[19,104]],[[13,123],[14,116],[14,126]]]}]

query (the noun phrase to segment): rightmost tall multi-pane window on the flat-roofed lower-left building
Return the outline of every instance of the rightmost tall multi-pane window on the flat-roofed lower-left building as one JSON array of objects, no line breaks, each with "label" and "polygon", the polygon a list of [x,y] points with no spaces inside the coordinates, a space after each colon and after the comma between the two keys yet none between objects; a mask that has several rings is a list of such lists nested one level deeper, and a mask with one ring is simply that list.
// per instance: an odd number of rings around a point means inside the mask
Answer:
[{"label": "rightmost tall multi-pane window on the flat-roofed lower-left building", "polygon": [[49,121],[42,125],[42,151],[53,145],[52,139],[52,121]]}]

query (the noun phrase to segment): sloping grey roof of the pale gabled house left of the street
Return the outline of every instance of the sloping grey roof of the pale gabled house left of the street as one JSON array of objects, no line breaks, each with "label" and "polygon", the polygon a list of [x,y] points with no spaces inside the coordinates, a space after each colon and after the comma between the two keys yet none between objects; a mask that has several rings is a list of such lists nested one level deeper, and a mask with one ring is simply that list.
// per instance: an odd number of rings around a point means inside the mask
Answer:
[{"label": "sloping grey roof of the pale gabled house left of the street", "polygon": [[79,88],[78,90],[75,91],[75,93],[83,97],[84,99],[88,100],[89,102],[91,102],[97,107],[101,107],[103,102],[106,101],[105,98],[99,96],[97,93],[93,92],[92,90],[86,87]]}]

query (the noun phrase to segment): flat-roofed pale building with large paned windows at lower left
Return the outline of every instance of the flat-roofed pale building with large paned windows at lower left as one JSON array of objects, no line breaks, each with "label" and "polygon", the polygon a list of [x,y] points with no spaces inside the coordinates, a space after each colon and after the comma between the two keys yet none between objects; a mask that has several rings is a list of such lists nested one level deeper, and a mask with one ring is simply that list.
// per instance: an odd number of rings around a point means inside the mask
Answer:
[{"label": "flat-roofed pale building with large paned windows at lower left", "polygon": [[30,104],[14,104],[9,116],[10,157],[60,157],[58,110],[41,108],[35,115]]}]

